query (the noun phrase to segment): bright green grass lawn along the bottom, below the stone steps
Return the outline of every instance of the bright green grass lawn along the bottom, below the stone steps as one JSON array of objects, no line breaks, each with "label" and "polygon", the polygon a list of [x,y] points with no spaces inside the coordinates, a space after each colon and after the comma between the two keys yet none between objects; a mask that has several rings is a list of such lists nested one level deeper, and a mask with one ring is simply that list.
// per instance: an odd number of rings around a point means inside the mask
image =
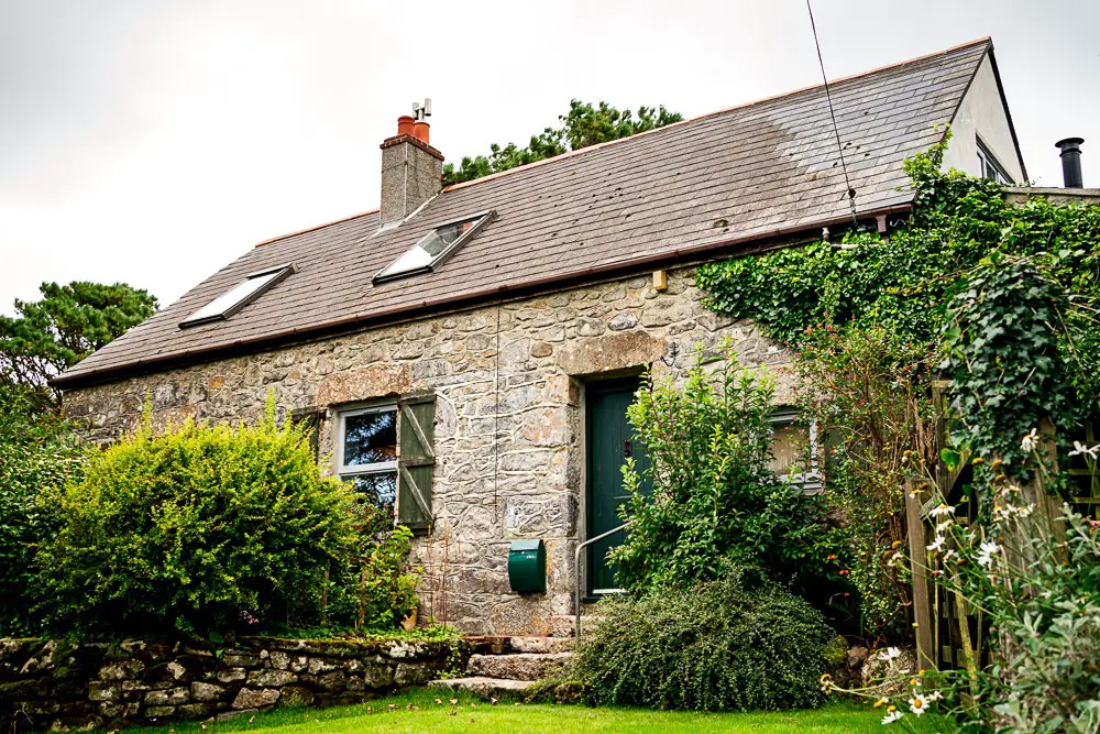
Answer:
[{"label": "bright green grass lawn along the bottom, below the stone steps", "polygon": [[[457,705],[435,690],[417,690],[369,703],[337,709],[287,709],[241,716],[230,721],[188,722],[155,728],[127,730],[138,734],[185,732],[300,732],[301,734],[358,734],[359,732],[883,732],[882,712],[855,704],[832,704],[813,711],[781,713],[689,713],[647,709],[590,709],[581,705],[497,705],[460,697]],[[391,704],[395,709],[391,710]],[[373,713],[367,713],[367,706]],[[409,706],[418,706],[418,710]],[[454,715],[451,715],[454,711]],[[250,717],[252,721],[250,721]],[[908,716],[910,721],[913,716]],[[917,731],[950,731],[944,722],[924,717]]]}]

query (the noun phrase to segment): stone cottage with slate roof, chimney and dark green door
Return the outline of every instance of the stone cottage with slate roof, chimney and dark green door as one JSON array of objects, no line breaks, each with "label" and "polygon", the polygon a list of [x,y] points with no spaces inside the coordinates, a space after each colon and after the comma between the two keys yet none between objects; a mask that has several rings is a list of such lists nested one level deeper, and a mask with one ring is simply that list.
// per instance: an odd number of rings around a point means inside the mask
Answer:
[{"label": "stone cottage with slate roof, chimney and dark green door", "polygon": [[[836,131],[818,86],[447,188],[428,124],[402,118],[378,209],[251,249],[59,375],[65,410],[108,441],[146,394],[157,420],[234,420],[274,390],[334,474],[419,533],[437,616],[558,628],[578,574],[615,589],[618,538],[573,556],[619,523],[639,375],[726,337],[746,365],[788,360],[701,305],[698,263],[835,237],[854,215],[888,233],[912,206],[902,162],[946,124],[945,165],[1026,179],[988,39],[828,91]],[[776,415],[782,442],[793,416]],[[515,539],[546,543],[544,593],[512,591]]]}]

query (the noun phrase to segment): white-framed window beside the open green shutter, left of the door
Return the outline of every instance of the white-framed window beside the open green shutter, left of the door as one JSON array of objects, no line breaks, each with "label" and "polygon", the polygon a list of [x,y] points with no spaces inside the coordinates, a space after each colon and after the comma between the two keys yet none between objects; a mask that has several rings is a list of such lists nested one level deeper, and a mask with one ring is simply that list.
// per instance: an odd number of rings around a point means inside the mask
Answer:
[{"label": "white-framed window beside the open green shutter, left of the door", "polygon": [[337,473],[364,501],[391,510],[397,503],[397,415],[396,403],[337,414]]}]

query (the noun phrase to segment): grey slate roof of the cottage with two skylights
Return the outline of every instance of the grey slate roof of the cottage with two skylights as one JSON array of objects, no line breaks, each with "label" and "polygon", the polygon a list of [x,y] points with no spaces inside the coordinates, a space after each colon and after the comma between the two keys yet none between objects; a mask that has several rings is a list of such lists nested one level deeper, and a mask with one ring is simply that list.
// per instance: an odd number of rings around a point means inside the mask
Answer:
[{"label": "grey slate roof of the cottage with two skylights", "polygon": [[[988,39],[831,83],[861,215],[911,204],[902,161],[941,140]],[[260,349],[323,329],[552,288],[596,273],[694,260],[716,247],[849,218],[824,87],[715,112],[444,189],[382,233],[377,211],[256,247],[55,380],[63,387]],[[899,189],[899,187],[902,187]],[[372,276],[436,224],[497,219],[440,270]],[[244,275],[298,272],[226,321],[179,328]]]}]

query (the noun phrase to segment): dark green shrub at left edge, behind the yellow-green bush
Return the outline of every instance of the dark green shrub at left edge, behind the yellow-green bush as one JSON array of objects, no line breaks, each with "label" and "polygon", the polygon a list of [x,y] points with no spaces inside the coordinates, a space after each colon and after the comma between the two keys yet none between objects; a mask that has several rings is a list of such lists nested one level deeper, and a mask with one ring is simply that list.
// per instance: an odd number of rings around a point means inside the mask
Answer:
[{"label": "dark green shrub at left edge, behind the yellow-green bush", "polygon": [[22,391],[0,387],[0,637],[37,632],[30,611],[33,559],[37,544],[53,534],[38,495],[79,478],[89,449]]}]

